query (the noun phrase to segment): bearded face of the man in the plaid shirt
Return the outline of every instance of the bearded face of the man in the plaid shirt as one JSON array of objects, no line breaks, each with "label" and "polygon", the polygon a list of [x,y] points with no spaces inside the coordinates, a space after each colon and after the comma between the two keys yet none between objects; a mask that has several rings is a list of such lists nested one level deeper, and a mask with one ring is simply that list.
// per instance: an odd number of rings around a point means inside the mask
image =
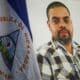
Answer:
[{"label": "bearded face of the man in the plaid shirt", "polygon": [[48,12],[48,27],[54,40],[67,44],[72,40],[73,26],[66,8],[56,7]]}]

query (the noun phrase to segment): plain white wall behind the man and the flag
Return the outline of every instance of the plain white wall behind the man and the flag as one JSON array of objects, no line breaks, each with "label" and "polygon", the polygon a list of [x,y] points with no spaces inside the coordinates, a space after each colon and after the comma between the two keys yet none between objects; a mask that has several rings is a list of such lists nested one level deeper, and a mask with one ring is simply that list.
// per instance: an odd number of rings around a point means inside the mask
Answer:
[{"label": "plain white wall behind the man and the flag", "polygon": [[[30,27],[33,34],[33,45],[36,50],[39,46],[51,39],[47,27],[46,7],[54,0],[26,0]],[[74,26],[74,40],[80,43],[80,1],[79,0],[57,0],[68,6]]]}]

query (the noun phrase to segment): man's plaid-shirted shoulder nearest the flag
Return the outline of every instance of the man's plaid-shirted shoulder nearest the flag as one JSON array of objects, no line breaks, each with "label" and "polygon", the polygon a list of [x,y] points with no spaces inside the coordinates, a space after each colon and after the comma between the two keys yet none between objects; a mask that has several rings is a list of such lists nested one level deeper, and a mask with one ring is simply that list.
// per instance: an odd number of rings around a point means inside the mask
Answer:
[{"label": "man's plaid-shirted shoulder nearest the flag", "polygon": [[48,42],[37,49],[37,60],[40,68],[43,64],[47,64],[47,59],[50,58],[50,53],[52,52],[54,52],[54,49],[51,42]]}]

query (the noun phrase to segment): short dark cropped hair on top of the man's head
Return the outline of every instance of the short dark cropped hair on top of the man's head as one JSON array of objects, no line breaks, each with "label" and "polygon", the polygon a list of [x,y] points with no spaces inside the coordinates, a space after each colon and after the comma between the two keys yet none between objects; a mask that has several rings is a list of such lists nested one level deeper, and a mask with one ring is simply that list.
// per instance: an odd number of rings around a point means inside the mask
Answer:
[{"label": "short dark cropped hair on top of the man's head", "polygon": [[55,2],[52,2],[48,5],[47,9],[46,9],[46,14],[47,14],[47,17],[48,17],[48,12],[51,8],[55,8],[55,7],[64,7],[67,9],[69,15],[70,15],[70,11],[69,9],[67,8],[67,6],[65,6],[62,2],[58,2],[58,1],[55,1]]}]

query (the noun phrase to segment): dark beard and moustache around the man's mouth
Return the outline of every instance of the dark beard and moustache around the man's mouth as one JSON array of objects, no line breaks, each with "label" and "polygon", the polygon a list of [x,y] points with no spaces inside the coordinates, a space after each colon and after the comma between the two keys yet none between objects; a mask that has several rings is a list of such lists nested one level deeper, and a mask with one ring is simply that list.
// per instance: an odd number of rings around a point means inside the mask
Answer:
[{"label": "dark beard and moustache around the man's mouth", "polygon": [[[62,34],[62,31],[66,32],[66,34]],[[62,45],[66,45],[72,41],[72,35],[67,29],[61,29],[54,40],[60,42]]]}]

